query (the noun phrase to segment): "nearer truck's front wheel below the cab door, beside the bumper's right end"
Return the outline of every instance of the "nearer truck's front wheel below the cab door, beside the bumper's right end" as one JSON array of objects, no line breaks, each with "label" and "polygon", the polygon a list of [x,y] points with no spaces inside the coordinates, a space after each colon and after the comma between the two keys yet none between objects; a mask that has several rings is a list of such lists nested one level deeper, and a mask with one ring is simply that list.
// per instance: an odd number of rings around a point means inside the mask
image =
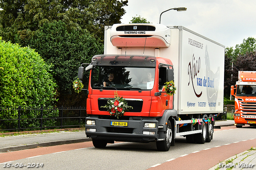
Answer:
[{"label": "nearer truck's front wheel below the cab door, beside the bumper's right end", "polygon": [[171,144],[174,142],[174,132],[172,130],[171,122],[167,122],[166,127],[166,138],[165,140],[157,141],[156,148],[158,151],[168,151],[170,149]]}]

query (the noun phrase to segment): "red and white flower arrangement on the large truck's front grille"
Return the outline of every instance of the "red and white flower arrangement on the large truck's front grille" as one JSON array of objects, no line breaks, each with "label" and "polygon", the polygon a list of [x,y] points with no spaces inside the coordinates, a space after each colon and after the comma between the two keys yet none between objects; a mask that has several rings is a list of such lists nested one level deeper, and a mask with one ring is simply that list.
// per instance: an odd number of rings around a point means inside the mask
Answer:
[{"label": "red and white flower arrangement on the large truck's front grille", "polygon": [[125,99],[118,96],[117,91],[114,92],[114,97],[114,99],[108,99],[107,104],[101,107],[108,109],[110,115],[115,115],[119,119],[120,116],[123,116],[126,111],[133,109],[133,107],[128,106]]}]

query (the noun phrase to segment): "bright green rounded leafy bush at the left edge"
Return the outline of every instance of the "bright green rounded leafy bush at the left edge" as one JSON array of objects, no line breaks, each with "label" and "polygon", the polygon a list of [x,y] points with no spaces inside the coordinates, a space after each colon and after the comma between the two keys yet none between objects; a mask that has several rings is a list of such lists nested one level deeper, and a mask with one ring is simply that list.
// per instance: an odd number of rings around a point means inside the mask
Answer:
[{"label": "bright green rounded leafy bush at the left edge", "polygon": [[34,49],[0,38],[0,106],[54,105],[51,68]]}]

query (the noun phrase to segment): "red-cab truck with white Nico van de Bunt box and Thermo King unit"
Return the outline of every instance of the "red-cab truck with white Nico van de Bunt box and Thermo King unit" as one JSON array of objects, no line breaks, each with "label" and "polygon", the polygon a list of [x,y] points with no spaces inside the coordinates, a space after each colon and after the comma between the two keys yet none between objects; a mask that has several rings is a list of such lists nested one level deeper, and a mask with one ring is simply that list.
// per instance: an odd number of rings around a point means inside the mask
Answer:
[{"label": "red-cab truck with white Nico van de Bunt box and Thermo King unit", "polygon": [[[104,54],[85,68],[86,136],[97,148],[156,142],[168,151],[176,136],[210,142],[214,117],[223,112],[224,48],[182,26],[105,26]],[[81,65],[78,78],[83,71]],[[174,82],[174,94],[166,93],[166,82]],[[121,102],[114,103],[117,95]]]}]

